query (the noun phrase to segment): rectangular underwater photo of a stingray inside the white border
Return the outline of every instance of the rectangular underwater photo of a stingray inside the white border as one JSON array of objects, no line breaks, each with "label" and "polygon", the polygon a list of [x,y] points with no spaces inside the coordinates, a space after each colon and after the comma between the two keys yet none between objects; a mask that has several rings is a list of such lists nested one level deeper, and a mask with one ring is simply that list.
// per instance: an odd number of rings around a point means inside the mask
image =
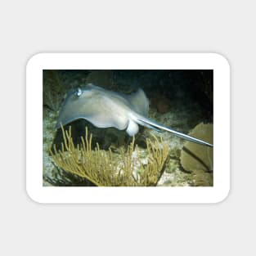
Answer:
[{"label": "rectangular underwater photo of a stingray inside the white border", "polygon": [[43,186],[213,186],[213,70],[43,70]]}]

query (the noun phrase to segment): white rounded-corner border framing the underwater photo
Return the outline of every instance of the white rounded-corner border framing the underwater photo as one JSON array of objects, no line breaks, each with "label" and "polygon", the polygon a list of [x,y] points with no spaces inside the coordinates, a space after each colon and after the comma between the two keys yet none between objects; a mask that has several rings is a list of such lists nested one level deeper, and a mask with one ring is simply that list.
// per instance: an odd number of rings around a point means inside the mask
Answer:
[{"label": "white rounded-corner border framing the underwater photo", "polygon": [[[213,187],[43,186],[43,70],[213,70]],[[217,203],[230,190],[230,66],[217,53],[39,53],[26,69],[26,190],[38,203]]]}]

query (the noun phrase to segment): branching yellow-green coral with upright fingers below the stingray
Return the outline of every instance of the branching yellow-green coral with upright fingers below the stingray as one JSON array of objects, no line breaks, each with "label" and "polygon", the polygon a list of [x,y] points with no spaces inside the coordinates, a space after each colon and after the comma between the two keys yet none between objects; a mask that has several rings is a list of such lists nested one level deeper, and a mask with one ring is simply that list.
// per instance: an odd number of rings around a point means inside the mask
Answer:
[{"label": "branching yellow-green coral with upright fingers below the stingray", "polygon": [[53,146],[52,159],[59,168],[74,173],[96,186],[156,186],[164,171],[168,158],[168,145],[156,137],[146,139],[147,157],[141,158],[140,150],[134,146],[134,137],[128,150],[122,148],[120,154],[101,150],[97,144],[92,150],[92,134],[81,137],[81,143],[74,146],[69,131],[62,126],[64,143],[61,150]]}]

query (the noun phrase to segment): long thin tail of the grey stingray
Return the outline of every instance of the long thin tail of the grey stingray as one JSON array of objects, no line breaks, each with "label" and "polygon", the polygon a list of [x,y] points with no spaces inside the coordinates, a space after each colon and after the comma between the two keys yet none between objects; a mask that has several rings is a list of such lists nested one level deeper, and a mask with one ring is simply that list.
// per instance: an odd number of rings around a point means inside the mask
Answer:
[{"label": "long thin tail of the grey stingray", "polygon": [[201,144],[204,146],[211,146],[213,147],[213,144],[210,144],[206,141],[202,141],[200,139],[197,139],[196,137],[191,137],[189,135],[186,135],[182,132],[177,132],[175,130],[173,130],[172,128],[168,128],[162,124],[158,124],[156,123],[154,120],[151,119],[147,119],[141,115],[137,115],[136,116],[136,121],[138,124],[141,124],[143,126],[149,127],[149,128],[155,128],[156,130],[159,131],[159,129],[164,130],[164,131],[168,131],[168,132],[172,132],[173,134],[175,134],[177,137],[182,137],[183,139],[185,139],[186,141],[191,141],[191,142],[195,142],[197,144]]}]

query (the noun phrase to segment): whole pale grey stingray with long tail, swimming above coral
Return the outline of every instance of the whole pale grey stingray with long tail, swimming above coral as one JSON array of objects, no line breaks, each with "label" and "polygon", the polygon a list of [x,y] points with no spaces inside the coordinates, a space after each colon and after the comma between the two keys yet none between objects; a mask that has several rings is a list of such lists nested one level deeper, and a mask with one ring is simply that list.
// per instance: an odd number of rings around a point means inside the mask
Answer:
[{"label": "whole pale grey stingray with long tail, swimming above coral", "polygon": [[139,126],[172,132],[177,137],[192,141],[205,146],[212,144],[191,137],[182,132],[177,132],[162,124],[147,118],[149,100],[141,88],[132,94],[112,92],[89,83],[85,89],[78,88],[69,92],[60,115],[57,119],[56,128],[61,124],[69,124],[77,119],[86,119],[98,128],[115,127],[119,130],[126,129],[129,136],[135,135]]}]

